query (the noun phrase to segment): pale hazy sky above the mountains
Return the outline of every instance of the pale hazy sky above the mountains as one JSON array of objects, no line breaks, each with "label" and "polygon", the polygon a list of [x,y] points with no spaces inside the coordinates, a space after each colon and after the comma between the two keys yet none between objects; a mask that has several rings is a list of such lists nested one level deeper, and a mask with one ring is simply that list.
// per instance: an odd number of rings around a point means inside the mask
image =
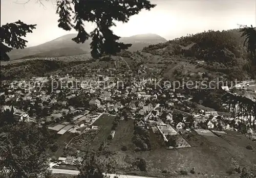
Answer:
[{"label": "pale hazy sky above the mountains", "polygon": [[[38,45],[62,35],[76,33],[57,26],[54,0],[1,0],[1,25],[18,19],[28,24],[37,24],[32,34],[28,34],[27,46]],[[227,30],[238,28],[237,24],[256,26],[256,0],[253,1],[173,1],[155,0],[157,6],[151,11],[141,11],[130,18],[128,23],[116,23],[116,35],[132,36],[155,33],[167,40],[204,30]],[[86,29],[92,31],[93,24]]]}]

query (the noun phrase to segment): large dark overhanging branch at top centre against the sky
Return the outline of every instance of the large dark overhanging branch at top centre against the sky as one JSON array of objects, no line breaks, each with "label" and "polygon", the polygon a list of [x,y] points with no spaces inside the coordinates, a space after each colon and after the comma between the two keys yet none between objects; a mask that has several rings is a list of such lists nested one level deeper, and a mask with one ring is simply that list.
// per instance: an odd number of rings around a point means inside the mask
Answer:
[{"label": "large dark overhanging branch at top centre against the sky", "polygon": [[[57,2],[56,13],[59,14],[59,28],[66,31],[73,28],[78,32],[77,36],[72,39],[73,41],[84,43],[89,37],[92,38],[91,55],[93,58],[99,58],[102,55],[116,54],[121,49],[132,46],[132,44],[117,42],[120,37],[110,30],[112,26],[116,26],[114,20],[127,22],[131,16],[138,14],[142,9],[151,10],[155,6],[147,0],[61,0]],[[73,18],[72,12],[75,14]],[[96,24],[96,28],[90,34],[84,30],[86,21]]]}]

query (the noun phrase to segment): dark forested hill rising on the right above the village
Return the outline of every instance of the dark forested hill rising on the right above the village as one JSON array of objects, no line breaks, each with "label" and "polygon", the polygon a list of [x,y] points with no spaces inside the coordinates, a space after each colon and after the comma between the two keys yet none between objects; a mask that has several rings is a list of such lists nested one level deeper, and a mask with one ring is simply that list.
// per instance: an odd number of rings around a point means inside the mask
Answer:
[{"label": "dark forested hill rising on the right above the village", "polygon": [[249,54],[244,46],[245,38],[240,29],[212,31],[190,34],[166,43],[144,47],[142,52],[163,57],[183,56],[189,60],[205,61],[207,70],[223,73],[255,76],[249,69]]}]

